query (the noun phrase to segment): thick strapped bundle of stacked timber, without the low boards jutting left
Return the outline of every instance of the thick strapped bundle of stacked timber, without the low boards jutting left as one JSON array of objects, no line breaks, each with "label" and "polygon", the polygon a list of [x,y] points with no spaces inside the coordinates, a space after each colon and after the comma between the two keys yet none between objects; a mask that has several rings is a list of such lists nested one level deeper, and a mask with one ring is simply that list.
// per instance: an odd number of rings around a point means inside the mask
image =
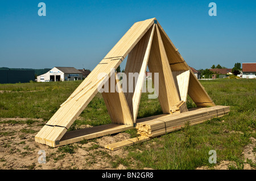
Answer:
[{"label": "thick strapped bundle of stacked timber, without the low boards jutting left", "polygon": [[176,131],[185,127],[185,124],[195,125],[203,123],[213,117],[221,117],[229,112],[228,106],[213,106],[174,115],[165,115],[156,119],[141,121],[136,128],[141,136],[155,137],[164,133]]}]

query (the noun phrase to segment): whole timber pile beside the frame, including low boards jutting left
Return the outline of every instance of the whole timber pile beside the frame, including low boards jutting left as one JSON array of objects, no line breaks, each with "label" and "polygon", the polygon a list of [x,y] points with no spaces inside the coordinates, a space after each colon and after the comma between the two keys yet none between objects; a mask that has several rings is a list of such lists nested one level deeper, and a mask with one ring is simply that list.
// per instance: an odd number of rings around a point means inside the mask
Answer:
[{"label": "whole timber pile beside the frame, including low boards jutting left", "polygon": [[188,112],[173,115],[157,115],[138,119],[136,125],[138,136],[127,140],[105,145],[106,149],[118,150],[125,146],[138,144],[150,140],[152,137],[184,128],[185,124],[195,125],[203,123],[213,117],[221,117],[230,112],[229,106],[213,106],[208,108],[192,108]]}]

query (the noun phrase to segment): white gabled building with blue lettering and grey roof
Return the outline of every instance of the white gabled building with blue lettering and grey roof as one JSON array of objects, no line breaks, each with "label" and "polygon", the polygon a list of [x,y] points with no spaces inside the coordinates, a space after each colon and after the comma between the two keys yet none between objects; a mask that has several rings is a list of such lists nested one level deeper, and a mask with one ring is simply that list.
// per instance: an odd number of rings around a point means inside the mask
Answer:
[{"label": "white gabled building with blue lettering and grey roof", "polygon": [[81,71],[73,67],[59,67],[38,76],[38,82],[77,81],[82,79]]}]

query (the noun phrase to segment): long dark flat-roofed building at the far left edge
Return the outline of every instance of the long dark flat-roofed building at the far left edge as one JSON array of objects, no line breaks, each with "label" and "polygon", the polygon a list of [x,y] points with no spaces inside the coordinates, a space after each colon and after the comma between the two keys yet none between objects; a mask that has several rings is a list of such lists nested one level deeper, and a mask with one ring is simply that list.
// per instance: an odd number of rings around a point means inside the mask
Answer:
[{"label": "long dark flat-roofed building at the far left edge", "polygon": [[0,83],[35,81],[35,70],[0,70]]}]

